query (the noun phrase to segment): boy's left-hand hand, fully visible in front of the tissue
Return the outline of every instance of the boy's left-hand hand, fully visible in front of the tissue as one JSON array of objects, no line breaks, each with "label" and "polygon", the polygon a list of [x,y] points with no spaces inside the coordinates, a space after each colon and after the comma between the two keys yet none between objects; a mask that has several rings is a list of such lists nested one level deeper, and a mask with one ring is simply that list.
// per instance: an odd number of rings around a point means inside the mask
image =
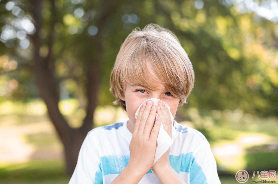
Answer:
[{"label": "boy's left-hand hand, fully visible in front of the tissue", "polygon": [[[156,153],[157,136],[161,119],[156,118],[157,106],[144,103],[138,113],[131,141],[129,143],[130,159],[128,165],[137,168],[145,175],[153,165]],[[145,105],[145,106],[144,106]],[[154,107],[151,110],[151,107]]]}]

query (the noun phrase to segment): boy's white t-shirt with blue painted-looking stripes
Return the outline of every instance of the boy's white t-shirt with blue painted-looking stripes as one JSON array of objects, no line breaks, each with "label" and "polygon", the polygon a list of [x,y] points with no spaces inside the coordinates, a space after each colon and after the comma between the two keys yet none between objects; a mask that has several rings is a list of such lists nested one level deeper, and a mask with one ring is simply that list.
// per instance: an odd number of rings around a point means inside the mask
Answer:
[{"label": "boy's white t-shirt with blue painted-looking stripes", "polygon": [[[127,166],[132,133],[128,119],[92,129],[84,139],[69,184],[109,184]],[[216,161],[204,135],[174,120],[177,135],[171,145],[171,167],[187,184],[221,184]],[[151,169],[139,184],[161,184]]]}]

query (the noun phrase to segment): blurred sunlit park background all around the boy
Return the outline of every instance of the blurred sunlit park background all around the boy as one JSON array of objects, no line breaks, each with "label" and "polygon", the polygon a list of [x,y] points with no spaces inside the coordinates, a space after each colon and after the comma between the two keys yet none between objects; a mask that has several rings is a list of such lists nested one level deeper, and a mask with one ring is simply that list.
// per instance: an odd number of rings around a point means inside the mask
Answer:
[{"label": "blurred sunlit park background all around the boy", "polygon": [[176,120],[207,137],[221,182],[277,172],[277,22],[277,0],[0,0],[0,184],[69,182],[87,132],[127,118],[110,71],[148,23],[189,55],[196,82]]}]

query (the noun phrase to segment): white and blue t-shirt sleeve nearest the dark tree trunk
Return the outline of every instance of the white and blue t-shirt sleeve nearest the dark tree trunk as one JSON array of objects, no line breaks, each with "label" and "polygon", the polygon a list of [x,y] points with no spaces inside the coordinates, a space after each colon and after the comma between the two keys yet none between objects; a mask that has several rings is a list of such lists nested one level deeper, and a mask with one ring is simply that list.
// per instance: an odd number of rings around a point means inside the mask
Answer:
[{"label": "white and blue t-shirt sleeve nearest the dark tree trunk", "polygon": [[103,184],[97,143],[95,132],[89,131],[80,148],[69,184]]}]

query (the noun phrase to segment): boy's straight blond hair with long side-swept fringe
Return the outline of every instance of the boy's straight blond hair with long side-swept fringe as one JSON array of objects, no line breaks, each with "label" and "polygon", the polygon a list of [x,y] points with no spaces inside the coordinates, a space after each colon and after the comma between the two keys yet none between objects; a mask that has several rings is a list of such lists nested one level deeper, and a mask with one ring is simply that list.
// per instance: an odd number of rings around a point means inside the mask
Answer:
[{"label": "boy's straight blond hair with long side-swept fringe", "polygon": [[157,90],[157,81],[147,69],[150,62],[165,88],[180,98],[178,108],[187,103],[186,98],[194,86],[194,70],[187,53],[177,36],[158,24],[148,24],[141,30],[136,27],[122,43],[110,75],[110,92],[126,111],[125,94],[129,85]]}]

